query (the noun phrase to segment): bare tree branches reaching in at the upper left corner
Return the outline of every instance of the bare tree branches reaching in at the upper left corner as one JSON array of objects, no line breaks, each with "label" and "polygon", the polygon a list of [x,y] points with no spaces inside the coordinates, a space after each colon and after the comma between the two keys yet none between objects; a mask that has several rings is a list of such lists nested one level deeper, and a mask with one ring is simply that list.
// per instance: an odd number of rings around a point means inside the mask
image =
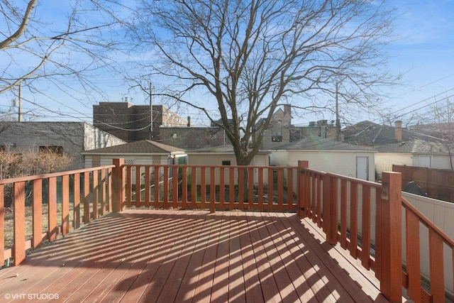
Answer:
[{"label": "bare tree branches reaching in at the upper left corner", "polygon": [[[109,11],[99,1],[50,4],[61,8],[52,18],[46,5],[38,0],[0,0],[0,94],[9,92],[17,99],[22,84],[37,97],[52,87],[72,98],[75,89],[69,82],[76,80],[82,87],[79,92],[102,95],[93,75],[114,63],[111,30],[118,21],[111,11],[114,4],[109,4]],[[63,7],[67,11],[62,12]],[[55,110],[34,105],[36,111]]]}]

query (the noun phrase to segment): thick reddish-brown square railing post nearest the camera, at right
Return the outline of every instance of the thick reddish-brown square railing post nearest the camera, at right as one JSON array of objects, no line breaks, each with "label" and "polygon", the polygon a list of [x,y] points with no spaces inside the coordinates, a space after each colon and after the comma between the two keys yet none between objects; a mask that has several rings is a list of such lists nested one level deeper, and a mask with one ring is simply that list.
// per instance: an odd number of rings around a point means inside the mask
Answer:
[{"label": "thick reddish-brown square railing post nearest the camera, at right", "polygon": [[382,235],[376,247],[380,249],[380,292],[390,302],[402,302],[402,175],[382,173],[380,205],[377,205],[377,224]]}]

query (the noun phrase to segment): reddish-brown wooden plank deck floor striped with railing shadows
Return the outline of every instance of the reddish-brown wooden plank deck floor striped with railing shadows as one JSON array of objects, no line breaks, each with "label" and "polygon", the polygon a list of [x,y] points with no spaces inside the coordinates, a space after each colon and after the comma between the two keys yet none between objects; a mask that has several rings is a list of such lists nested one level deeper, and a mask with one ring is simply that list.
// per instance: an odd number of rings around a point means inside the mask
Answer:
[{"label": "reddish-brown wooden plank deck floor striped with railing shadows", "polygon": [[128,210],[0,270],[0,301],[387,302],[323,239],[296,214]]}]

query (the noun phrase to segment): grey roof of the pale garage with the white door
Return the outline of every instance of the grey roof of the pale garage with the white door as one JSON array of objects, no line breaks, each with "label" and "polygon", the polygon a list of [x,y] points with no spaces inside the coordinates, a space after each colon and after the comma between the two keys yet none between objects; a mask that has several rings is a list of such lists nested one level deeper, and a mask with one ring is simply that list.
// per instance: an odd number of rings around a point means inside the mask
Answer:
[{"label": "grey roof of the pale garage with the white door", "polygon": [[272,150],[336,150],[336,151],[360,151],[375,153],[375,148],[360,145],[352,145],[317,136],[309,136],[299,141],[279,145]]}]

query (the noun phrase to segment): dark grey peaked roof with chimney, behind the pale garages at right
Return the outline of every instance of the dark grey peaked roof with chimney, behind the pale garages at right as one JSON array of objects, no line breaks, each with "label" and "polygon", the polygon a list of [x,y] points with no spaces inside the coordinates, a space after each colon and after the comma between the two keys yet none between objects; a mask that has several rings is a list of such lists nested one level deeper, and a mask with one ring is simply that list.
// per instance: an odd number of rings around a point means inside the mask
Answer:
[{"label": "dark grey peaked roof with chimney, behind the pale garages at right", "polygon": [[438,138],[409,131],[406,128],[402,128],[402,141],[398,141],[394,126],[381,125],[371,121],[361,121],[353,126],[348,126],[342,133],[344,136],[343,142],[355,145],[385,145],[414,139],[427,142],[440,142]]}]

